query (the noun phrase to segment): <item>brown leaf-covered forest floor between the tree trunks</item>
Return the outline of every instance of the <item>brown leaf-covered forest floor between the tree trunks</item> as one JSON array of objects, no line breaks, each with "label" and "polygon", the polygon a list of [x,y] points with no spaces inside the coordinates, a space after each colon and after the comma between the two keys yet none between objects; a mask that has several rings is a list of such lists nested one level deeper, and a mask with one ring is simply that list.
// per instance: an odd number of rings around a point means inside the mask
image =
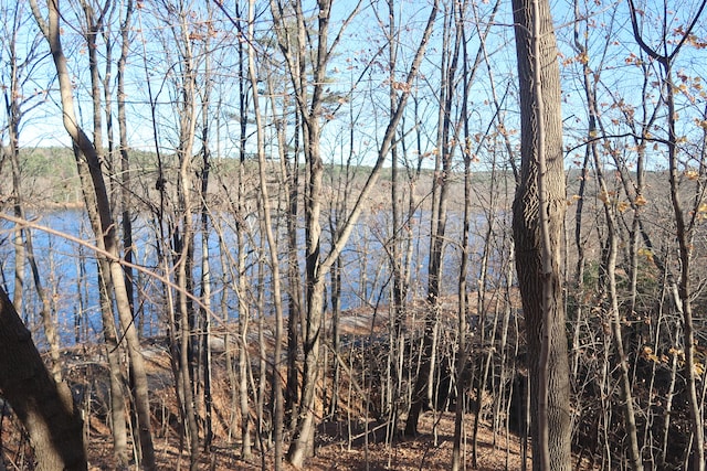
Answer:
[{"label": "brown leaf-covered forest floor between the tree trunks", "polygon": [[[372,334],[377,330],[377,322],[367,315],[352,315],[342,319],[342,334]],[[223,340],[223,339],[222,339]],[[272,335],[264,338],[265,349],[272,351]],[[252,358],[257,357],[260,343],[249,344]],[[144,342],[150,400],[152,406],[152,432],[157,465],[160,470],[189,469],[189,451],[181,441],[182,433],[179,425],[179,406],[176,400],[173,374],[170,355],[165,339],[146,339]],[[199,457],[199,470],[272,470],[274,469],[272,446],[257,446],[255,437],[253,454],[249,460],[241,457],[239,442],[240,420],[234,407],[233,377],[229,377],[225,367],[225,351],[230,350],[225,343],[222,350],[217,349],[213,357],[213,441],[209,451],[202,448]],[[359,346],[370,350],[371,345]],[[370,352],[369,352],[370,354]],[[373,352],[373,355],[376,353]],[[257,362],[255,362],[257,363]],[[113,456],[113,442],[108,428],[108,383],[107,364],[101,345],[82,345],[64,351],[64,371],[72,384],[74,393],[84,410],[84,426],[87,437],[89,470],[114,470],[116,462]],[[257,371],[252,373],[257,377]],[[342,377],[346,375],[342,375]],[[330,387],[330,382],[328,387]],[[366,400],[352,399],[348,382],[342,378],[339,385],[339,415],[336,421],[325,420],[317,432],[315,457],[305,461],[304,470],[447,470],[451,469],[454,413],[426,411],[420,417],[419,435],[415,438],[395,437],[386,442],[384,427],[377,428],[377,421],[368,420]],[[369,390],[369,394],[371,389]],[[265,393],[265,396],[268,396]],[[83,400],[82,400],[83,398]],[[370,398],[368,398],[370,399]],[[371,399],[372,400],[372,399]],[[198,402],[203,413],[203,399]],[[252,409],[256,407],[252,404]],[[268,406],[265,404],[264,408]],[[318,404],[323,409],[324,406]],[[252,413],[253,421],[255,413]],[[203,415],[202,415],[203,417]],[[489,417],[489,415],[487,415]],[[369,430],[365,429],[368,420]],[[503,420],[502,420],[503,422]],[[401,420],[399,427],[404,421]],[[203,426],[203,421],[202,421]],[[266,425],[264,428],[268,428]],[[482,420],[477,435],[476,465],[472,459],[472,437],[474,429],[474,414],[465,415],[462,469],[476,470],[520,470],[523,469],[521,439],[502,429],[494,433],[492,425]],[[32,451],[27,443],[25,436],[19,431],[17,419],[0,425],[4,459],[11,464],[8,469],[31,470],[33,467]],[[263,438],[266,440],[266,438]],[[285,443],[286,452],[288,443]],[[261,453],[260,449],[265,449]],[[529,450],[528,450],[529,453]],[[573,460],[576,462],[576,460]],[[530,467],[530,459],[527,459]],[[135,468],[131,468],[135,469]],[[579,468],[578,468],[579,469]],[[591,469],[582,467],[581,469]],[[294,471],[295,468],[284,463],[283,470]]]}]

